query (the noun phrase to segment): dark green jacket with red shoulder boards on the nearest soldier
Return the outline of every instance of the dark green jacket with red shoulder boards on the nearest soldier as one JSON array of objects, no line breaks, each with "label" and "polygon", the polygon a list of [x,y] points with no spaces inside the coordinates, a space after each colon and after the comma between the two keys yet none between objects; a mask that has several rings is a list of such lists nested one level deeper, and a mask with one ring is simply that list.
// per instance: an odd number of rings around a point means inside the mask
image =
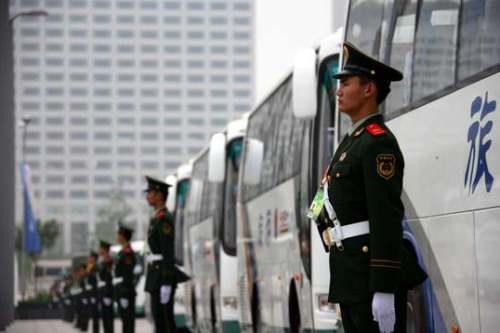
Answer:
[{"label": "dark green jacket with red shoulder boards on the nearest soldier", "polygon": [[[365,120],[337,148],[327,178],[330,201],[341,225],[368,220],[370,233],[343,240],[343,249],[332,246],[331,302],[367,301],[374,292],[401,286],[402,261],[409,261],[402,238],[403,169],[397,140],[381,115]],[[425,279],[416,261],[404,266],[418,282]]]}]

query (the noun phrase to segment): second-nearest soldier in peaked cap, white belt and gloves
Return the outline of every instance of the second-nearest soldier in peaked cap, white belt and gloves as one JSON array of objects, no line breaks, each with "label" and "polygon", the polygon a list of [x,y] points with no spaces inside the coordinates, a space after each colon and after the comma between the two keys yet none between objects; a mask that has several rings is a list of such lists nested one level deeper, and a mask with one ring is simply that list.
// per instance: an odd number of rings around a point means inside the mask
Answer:
[{"label": "second-nearest soldier in peaked cap, white belt and gloves", "polygon": [[151,255],[147,257],[145,290],[151,295],[155,332],[174,333],[174,219],[165,207],[170,185],[148,176],[146,181],[146,200],[155,211],[149,221],[148,245]]}]

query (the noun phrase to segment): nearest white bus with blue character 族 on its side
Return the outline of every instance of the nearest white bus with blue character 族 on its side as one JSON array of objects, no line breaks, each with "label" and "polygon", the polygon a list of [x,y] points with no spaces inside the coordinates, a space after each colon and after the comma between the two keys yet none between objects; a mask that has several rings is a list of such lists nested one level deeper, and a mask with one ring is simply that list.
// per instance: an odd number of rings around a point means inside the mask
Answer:
[{"label": "nearest white bus with blue character \u65cf on its side", "polygon": [[[429,275],[409,293],[409,332],[500,327],[499,14],[498,0],[350,2],[345,40],[404,75],[380,111],[405,158],[405,245]],[[338,141],[350,126],[329,88],[338,55],[308,50],[299,58],[294,112],[316,129],[334,115]],[[257,117],[248,137],[265,147]],[[250,187],[243,199],[257,191]]]}]

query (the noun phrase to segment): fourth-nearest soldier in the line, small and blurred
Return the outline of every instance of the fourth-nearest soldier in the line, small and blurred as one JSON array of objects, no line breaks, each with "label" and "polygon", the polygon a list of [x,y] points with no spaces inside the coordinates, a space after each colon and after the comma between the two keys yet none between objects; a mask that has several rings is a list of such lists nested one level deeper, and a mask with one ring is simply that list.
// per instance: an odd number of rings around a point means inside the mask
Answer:
[{"label": "fourth-nearest soldier in the line, small and blurred", "polygon": [[113,333],[113,258],[109,254],[111,244],[101,241],[99,244],[99,279],[102,286],[99,288],[101,304],[102,326],[104,333]]}]

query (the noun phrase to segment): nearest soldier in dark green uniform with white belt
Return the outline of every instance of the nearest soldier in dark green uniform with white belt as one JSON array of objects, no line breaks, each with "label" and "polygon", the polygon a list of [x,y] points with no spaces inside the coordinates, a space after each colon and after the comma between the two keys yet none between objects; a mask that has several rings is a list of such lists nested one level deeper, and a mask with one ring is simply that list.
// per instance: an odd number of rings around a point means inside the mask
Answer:
[{"label": "nearest soldier in dark green uniform with white belt", "polygon": [[402,74],[344,44],[333,77],[339,111],[352,120],[323,180],[323,238],[330,247],[329,301],[347,333],[405,332],[408,288],[426,275],[403,245],[403,155],[378,105]]}]

